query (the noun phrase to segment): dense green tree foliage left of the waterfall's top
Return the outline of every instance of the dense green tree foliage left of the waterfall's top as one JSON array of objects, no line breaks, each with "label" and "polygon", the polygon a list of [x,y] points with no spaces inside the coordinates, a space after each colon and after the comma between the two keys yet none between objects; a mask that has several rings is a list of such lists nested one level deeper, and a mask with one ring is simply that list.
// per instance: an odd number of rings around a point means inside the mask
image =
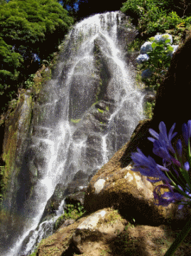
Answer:
[{"label": "dense green tree foliage left of the waterfall's top", "polygon": [[[56,0],[0,4],[0,96],[9,101],[40,62],[58,50],[73,19]],[[23,85],[31,86],[30,79]]]}]

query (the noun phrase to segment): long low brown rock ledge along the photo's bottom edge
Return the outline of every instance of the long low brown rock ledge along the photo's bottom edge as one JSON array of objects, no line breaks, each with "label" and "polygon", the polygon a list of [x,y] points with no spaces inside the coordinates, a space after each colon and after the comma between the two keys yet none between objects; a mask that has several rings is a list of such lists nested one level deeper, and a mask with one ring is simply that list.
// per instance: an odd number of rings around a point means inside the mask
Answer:
[{"label": "long low brown rock ledge along the photo's bottom edge", "polygon": [[[70,223],[42,240],[36,255],[163,256],[180,232],[167,225],[133,225],[112,208],[98,210]],[[190,255],[190,249],[189,234],[174,255]]]}]

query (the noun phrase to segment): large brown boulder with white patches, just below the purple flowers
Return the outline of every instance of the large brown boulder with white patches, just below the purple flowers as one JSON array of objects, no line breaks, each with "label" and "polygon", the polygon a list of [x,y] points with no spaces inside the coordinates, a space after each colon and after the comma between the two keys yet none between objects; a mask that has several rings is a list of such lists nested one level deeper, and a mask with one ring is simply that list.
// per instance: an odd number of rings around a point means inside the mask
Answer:
[{"label": "large brown boulder with white patches, just below the purple flowers", "polygon": [[189,208],[178,210],[177,205],[162,207],[154,204],[153,189],[162,182],[153,185],[139,172],[133,172],[131,164],[120,170],[109,169],[108,164],[94,175],[87,187],[84,200],[87,212],[114,207],[128,220],[135,218],[147,225],[172,222],[181,226],[191,216]]}]

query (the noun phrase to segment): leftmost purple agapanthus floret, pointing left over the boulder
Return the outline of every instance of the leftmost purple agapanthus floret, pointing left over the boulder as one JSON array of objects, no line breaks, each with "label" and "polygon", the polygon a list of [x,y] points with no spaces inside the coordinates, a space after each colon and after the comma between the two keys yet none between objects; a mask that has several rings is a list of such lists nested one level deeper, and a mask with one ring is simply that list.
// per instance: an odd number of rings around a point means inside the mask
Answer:
[{"label": "leftmost purple agapanthus floret, pointing left over the boulder", "polygon": [[163,173],[163,170],[169,171],[168,168],[155,163],[151,156],[146,157],[139,148],[137,150],[138,153],[131,153],[131,158],[134,162],[133,170],[139,171],[144,176],[158,178],[157,181],[163,180],[166,183],[170,183],[170,179]]}]

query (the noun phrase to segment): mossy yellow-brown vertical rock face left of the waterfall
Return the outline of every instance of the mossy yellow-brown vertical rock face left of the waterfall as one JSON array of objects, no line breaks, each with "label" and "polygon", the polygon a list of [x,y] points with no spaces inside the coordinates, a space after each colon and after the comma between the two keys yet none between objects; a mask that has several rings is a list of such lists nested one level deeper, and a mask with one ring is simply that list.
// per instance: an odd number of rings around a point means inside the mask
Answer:
[{"label": "mossy yellow-brown vertical rock face left of the waterfall", "polygon": [[[26,178],[26,173],[23,173],[23,158],[24,152],[28,146],[28,135],[30,134],[31,114],[32,114],[33,101],[31,91],[22,93],[16,108],[9,114],[6,119],[4,131],[4,144],[2,159],[5,166],[3,169],[4,176],[1,183],[4,184],[4,204],[3,210],[0,213],[1,225],[1,243],[11,241],[11,236],[7,233],[14,232],[13,218],[17,216],[18,209],[20,208],[20,200],[18,200],[18,193],[22,190],[28,191],[30,188],[30,180]],[[2,169],[1,169],[2,170]],[[21,186],[21,180],[25,183]],[[21,193],[21,197],[25,194]],[[17,217],[16,225],[19,227],[22,222],[22,217]]]}]

